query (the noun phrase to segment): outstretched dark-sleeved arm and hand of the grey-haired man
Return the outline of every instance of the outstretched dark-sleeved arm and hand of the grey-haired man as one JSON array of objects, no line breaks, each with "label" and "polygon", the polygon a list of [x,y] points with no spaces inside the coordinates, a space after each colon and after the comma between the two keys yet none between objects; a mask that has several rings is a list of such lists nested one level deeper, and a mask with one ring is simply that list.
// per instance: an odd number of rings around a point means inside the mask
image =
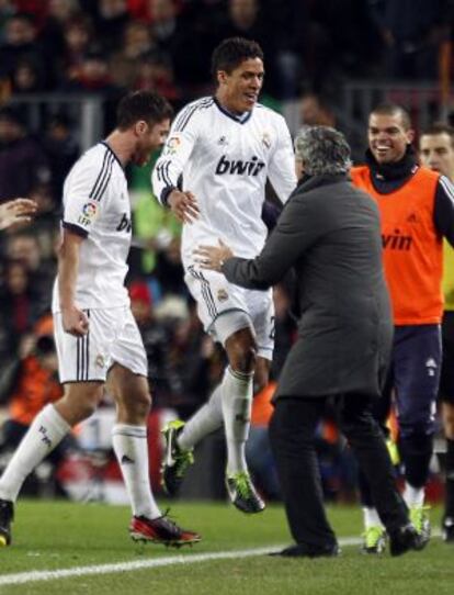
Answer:
[{"label": "outstretched dark-sleeved arm and hand of the grey-haired man", "polygon": [[303,195],[290,199],[257,258],[235,257],[223,244],[200,246],[195,250],[200,267],[222,272],[230,283],[247,289],[264,290],[276,284],[320,234],[319,215],[313,204],[306,203]]}]

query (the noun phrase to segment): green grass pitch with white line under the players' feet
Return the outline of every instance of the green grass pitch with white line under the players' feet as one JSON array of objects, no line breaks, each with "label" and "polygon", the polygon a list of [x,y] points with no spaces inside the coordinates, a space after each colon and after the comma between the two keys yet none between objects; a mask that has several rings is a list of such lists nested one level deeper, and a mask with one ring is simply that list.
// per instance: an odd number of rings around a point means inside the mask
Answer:
[{"label": "green grass pitch with white line under the players' feet", "polygon": [[[454,592],[454,546],[434,538],[423,552],[402,558],[365,557],[359,546],[344,546],[338,559],[284,560],[263,554],[195,561],[198,554],[243,551],[291,542],[280,506],[246,516],[224,504],[175,503],[175,519],[195,529],[203,541],[170,550],[129,540],[125,507],[68,502],[20,502],[13,546],[0,549],[0,595],[436,595]],[[332,507],[330,518],[342,537],[361,534],[360,508]],[[439,512],[432,514],[439,526]],[[181,557],[188,563],[181,563]],[[191,558],[193,558],[191,562]],[[170,559],[170,560],[169,560]],[[173,560],[174,559],[174,560]],[[149,561],[166,566],[136,568]],[[175,563],[173,564],[173,561]],[[177,563],[179,561],[179,563]],[[155,563],[155,562],[151,562]],[[112,564],[104,574],[87,566]],[[123,564],[118,572],[115,564]],[[78,576],[34,571],[79,569]],[[104,568],[105,571],[105,568]],[[11,584],[21,574],[25,582]],[[24,576],[24,573],[27,573]]]}]

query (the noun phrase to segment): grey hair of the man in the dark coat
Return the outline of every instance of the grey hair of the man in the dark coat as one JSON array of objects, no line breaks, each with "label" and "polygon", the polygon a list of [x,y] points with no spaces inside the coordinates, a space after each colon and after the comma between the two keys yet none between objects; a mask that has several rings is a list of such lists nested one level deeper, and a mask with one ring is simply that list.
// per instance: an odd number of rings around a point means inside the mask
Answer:
[{"label": "grey hair of the man in the dark coat", "polygon": [[329,126],[307,126],[295,138],[296,157],[308,176],[348,173],[350,146],[343,134]]}]

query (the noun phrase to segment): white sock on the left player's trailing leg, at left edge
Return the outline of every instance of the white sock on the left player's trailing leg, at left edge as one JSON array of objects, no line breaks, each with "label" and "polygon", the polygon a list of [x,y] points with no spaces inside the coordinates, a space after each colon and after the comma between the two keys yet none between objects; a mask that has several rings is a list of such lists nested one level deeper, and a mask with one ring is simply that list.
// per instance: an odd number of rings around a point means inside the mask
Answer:
[{"label": "white sock on the left player's trailing leg, at left edge", "polygon": [[0,479],[0,498],[15,502],[25,478],[70,431],[71,426],[54,405],[34,418]]}]

